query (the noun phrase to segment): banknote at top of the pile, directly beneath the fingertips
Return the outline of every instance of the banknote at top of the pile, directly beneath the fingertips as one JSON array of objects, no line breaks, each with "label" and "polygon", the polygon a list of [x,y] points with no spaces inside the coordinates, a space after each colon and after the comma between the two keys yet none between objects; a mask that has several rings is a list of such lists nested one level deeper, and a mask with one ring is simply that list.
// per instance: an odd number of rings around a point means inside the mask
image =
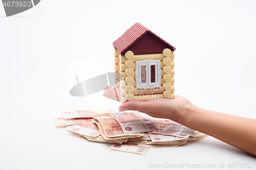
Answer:
[{"label": "banknote at top of the pile, directly beneath the fingertips", "polygon": [[144,118],[138,111],[124,111],[124,112],[114,112],[113,110],[108,109],[109,114],[113,118],[121,118],[121,119],[126,119],[126,118]]}]

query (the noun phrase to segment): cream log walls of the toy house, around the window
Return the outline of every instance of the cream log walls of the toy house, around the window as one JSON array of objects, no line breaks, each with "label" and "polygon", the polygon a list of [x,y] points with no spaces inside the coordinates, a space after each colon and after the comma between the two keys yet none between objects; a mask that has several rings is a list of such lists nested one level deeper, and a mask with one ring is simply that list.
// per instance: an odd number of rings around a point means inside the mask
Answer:
[{"label": "cream log walls of the toy house, around the window", "polygon": [[[136,61],[161,60],[161,87],[153,89],[136,89]],[[174,99],[174,52],[165,48],[162,54],[134,55],[127,51],[124,56],[114,48],[115,72],[122,74],[122,79],[116,76],[116,88],[121,93],[121,103],[125,101],[147,101],[152,99]]]}]

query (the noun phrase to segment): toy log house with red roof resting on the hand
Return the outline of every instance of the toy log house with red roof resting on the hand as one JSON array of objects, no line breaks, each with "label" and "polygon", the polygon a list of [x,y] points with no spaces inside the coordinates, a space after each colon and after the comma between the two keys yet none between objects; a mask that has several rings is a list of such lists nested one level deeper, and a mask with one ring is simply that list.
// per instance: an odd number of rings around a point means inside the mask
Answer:
[{"label": "toy log house with red roof resting on the hand", "polygon": [[[140,23],[113,42],[116,88],[125,101],[174,99],[174,50]],[[118,83],[119,82],[119,83]]]}]

